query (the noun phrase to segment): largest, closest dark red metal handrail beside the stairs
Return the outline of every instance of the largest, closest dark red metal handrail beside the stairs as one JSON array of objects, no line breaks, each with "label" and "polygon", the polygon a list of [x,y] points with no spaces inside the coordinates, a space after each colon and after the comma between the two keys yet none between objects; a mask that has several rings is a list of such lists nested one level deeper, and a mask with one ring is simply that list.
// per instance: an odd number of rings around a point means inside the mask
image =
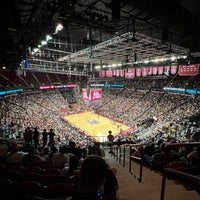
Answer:
[{"label": "largest, closest dark red metal handrail beside the stairs", "polygon": [[162,178],[162,186],[161,186],[161,193],[160,193],[160,200],[164,200],[164,195],[165,195],[165,183],[166,183],[166,176],[167,174],[174,174],[179,177],[183,177],[185,179],[188,179],[193,182],[200,183],[200,177],[191,175],[189,173],[182,172],[180,170],[172,169],[166,167],[168,164],[168,153],[170,149],[173,147],[200,147],[200,142],[193,142],[193,143],[169,143],[165,146],[164,149],[164,171],[163,171],[163,178]]}]

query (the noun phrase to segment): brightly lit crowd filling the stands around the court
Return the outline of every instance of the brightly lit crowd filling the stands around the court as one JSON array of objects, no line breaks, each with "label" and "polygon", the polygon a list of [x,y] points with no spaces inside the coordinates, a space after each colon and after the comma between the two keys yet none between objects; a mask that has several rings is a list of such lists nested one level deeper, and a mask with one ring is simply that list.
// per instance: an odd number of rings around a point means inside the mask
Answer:
[{"label": "brightly lit crowd filling the stands around the court", "polygon": [[[179,80],[183,81],[181,78],[173,78],[170,81],[138,79],[132,84],[127,83],[128,87],[125,89],[103,90],[101,102],[89,109],[113,121],[117,120],[133,127],[134,131],[128,134],[134,140],[151,139],[157,136],[164,138],[172,136],[177,140],[186,140],[187,134],[192,133],[195,126],[198,126],[198,122],[194,121],[191,124],[188,119],[200,112],[199,96],[179,95],[152,89],[158,83],[160,90],[165,85],[179,87]],[[198,88],[198,78],[188,78],[188,81],[184,78],[184,84],[191,85],[191,88]],[[143,90],[138,89],[139,86]],[[77,102],[80,102],[80,96],[81,94],[77,95]],[[37,128],[39,133],[53,129],[56,139],[61,142],[75,139],[78,144],[80,142],[80,145],[85,143],[85,136],[80,134],[76,127],[61,120],[63,115],[61,110],[70,110],[70,108],[67,99],[58,90],[2,97],[0,106],[1,131],[7,132],[11,138],[22,139],[25,129],[31,127],[32,130]],[[84,107],[75,107],[74,112],[76,109],[80,111]],[[42,139],[40,134],[40,142]]]}]

